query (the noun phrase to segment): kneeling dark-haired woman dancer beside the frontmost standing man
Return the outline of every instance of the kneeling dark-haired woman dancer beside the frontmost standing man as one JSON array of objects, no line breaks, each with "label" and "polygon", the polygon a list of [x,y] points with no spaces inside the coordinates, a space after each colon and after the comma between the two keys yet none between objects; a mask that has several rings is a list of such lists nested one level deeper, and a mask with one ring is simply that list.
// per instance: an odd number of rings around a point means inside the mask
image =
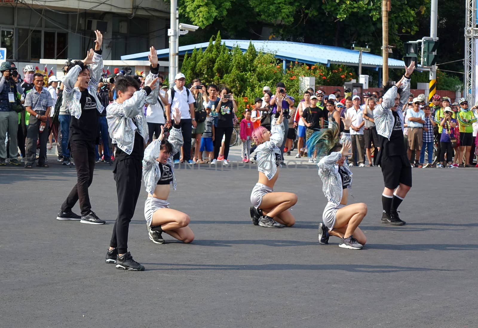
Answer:
[{"label": "kneeling dark-haired woman dancer beside the frontmost standing man", "polygon": [[194,233],[187,226],[189,216],[169,208],[167,201],[171,182],[176,190],[172,158],[183,145],[179,109],[174,108],[173,117],[174,125],[169,131],[169,140],[163,140],[164,129],[161,127],[159,138],[144,150],[143,180],[148,191],[148,198],[144,202],[144,217],[149,238],[156,244],[164,244],[163,231],[186,243],[194,240]]}]

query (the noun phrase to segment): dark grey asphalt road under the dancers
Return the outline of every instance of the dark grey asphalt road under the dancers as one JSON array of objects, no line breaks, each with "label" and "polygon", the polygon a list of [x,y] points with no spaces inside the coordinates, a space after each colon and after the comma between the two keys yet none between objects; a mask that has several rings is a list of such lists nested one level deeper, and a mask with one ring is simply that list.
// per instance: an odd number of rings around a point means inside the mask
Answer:
[{"label": "dark grey asphalt road under the dancers", "polygon": [[413,169],[407,225],[391,227],[380,223],[380,168],[352,168],[349,200],[369,214],[368,244],[351,251],[317,242],[326,199],[312,165],[281,169],[275,190],[299,200],[296,225],[277,230],[250,223],[255,166],[183,166],[169,201],[191,216],[195,241],[152,243],[142,192],[129,247],[146,271],[129,272],[104,262],[117,215],[110,166],[97,164],[90,187],[107,220],[96,226],[55,219],[76,172],[51,164],[0,167],[0,327],[478,326],[478,170]]}]

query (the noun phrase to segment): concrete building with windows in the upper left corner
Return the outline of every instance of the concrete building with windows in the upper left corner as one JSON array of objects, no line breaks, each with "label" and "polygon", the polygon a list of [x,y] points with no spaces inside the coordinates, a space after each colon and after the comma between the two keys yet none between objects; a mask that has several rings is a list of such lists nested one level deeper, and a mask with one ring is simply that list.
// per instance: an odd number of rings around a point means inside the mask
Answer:
[{"label": "concrete building with windows in the upper left corner", "polygon": [[163,0],[2,0],[0,12],[0,47],[19,69],[41,66],[40,59],[83,59],[95,46],[95,29],[103,32],[105,60],[150,45],[168,47],[169,4]]}]

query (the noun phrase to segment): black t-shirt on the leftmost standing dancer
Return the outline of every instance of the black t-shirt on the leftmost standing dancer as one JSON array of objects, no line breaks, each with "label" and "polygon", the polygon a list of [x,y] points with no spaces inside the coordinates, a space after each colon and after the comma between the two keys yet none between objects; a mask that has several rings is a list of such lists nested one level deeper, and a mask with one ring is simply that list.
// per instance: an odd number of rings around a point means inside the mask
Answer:
[{"label": "black t-shirt on the leftmost standing dancer", "polygon": [[76,119],[75,116],[71,117],[70,140],[96,142],[99,137],[99,113],[96,109],[96,100],[92,95],[89,94],[87,89],[81,91],[80,105],[80,118]]}]

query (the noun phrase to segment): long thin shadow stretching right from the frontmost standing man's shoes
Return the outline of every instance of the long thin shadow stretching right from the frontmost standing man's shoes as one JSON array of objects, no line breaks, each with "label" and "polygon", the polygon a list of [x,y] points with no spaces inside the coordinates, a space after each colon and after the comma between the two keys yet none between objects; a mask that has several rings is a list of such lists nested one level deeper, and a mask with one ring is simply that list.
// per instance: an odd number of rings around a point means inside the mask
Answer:
[{"label": "long thin shadow stretching right from the frontmost standing man's shoes", "polygon": [[365,264],[177,264],[177,263],[144,263],[146,265],[159,265],[161,267],[148,269],[148,271],[199,271],[199,270],[225,270],[225,271],[283,271],[283,270],[338,270],[353,273],[396,273],[412,271],[460,271],[448,269],[416,268],[396,265],[365,265]]}]

